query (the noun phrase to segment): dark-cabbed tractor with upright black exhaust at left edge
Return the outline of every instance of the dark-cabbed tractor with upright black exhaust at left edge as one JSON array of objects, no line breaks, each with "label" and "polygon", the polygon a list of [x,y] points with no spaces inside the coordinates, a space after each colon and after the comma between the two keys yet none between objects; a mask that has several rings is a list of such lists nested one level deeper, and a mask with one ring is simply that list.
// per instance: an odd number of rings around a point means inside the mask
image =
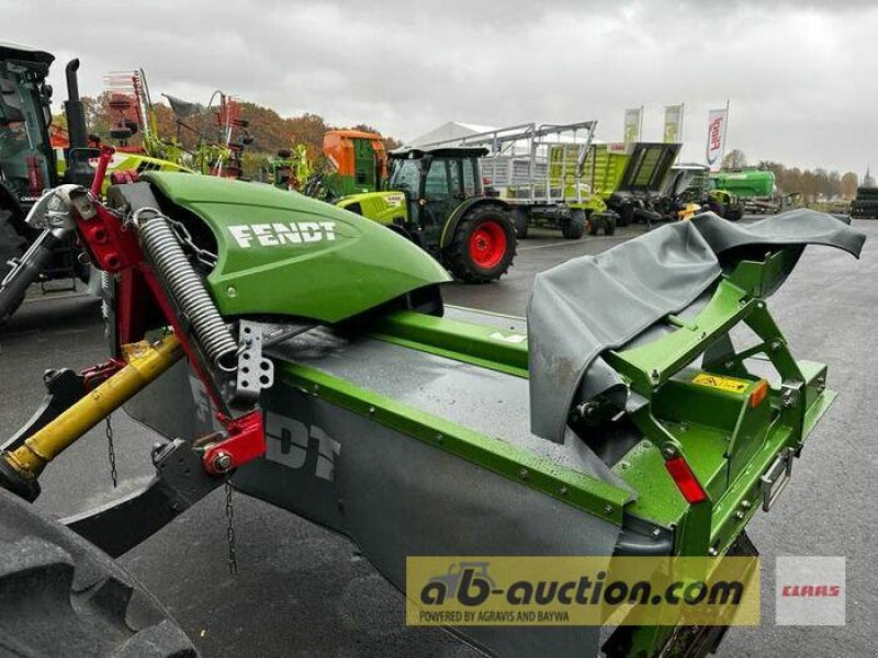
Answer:
[{"label": "dark-cabbed tractor with upright black exhaust at left edge", "polygon": [[[46,83],[55,57],[49,53],[13,44],[0,44],[0,288],[4,279],[29,249],[43,254],[40,281],[88,282],[88,260],[70,236],[63,240],[44,235],[42,218],[27,223],[25,216],[45,190],[61,183],[89,185],[100,150],[88,148],[89,136],[79,100],[79,60],[67,65],[69,98],[65,103],[68,147],[55,152],[52,138],[52,87]],[[179,171],[181,167],[143,155],[119,154],[108,170],[124,175],[130,170]],[[109,184],[109,179],[108,179]],[[40,242],[40,245],[37,245]],[[13,303],[0,311],[0,322],[24,299],[16,291]]]}]

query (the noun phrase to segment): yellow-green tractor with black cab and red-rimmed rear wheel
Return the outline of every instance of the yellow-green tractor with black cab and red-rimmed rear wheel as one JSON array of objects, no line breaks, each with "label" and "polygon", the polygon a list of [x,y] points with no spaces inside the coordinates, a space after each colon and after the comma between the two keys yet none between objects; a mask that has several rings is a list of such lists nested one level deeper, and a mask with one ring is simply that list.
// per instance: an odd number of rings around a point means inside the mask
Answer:
[{"label": "yellow-green tractor with black cab and red-rimmed rear wheel", "polygon": [[336,205],[405,236],[461,281],[496,281],[513,264],[517,238],[513,208],[485,194],[479,159],[486,152],[393,151],[387,190],[351,194]]}]

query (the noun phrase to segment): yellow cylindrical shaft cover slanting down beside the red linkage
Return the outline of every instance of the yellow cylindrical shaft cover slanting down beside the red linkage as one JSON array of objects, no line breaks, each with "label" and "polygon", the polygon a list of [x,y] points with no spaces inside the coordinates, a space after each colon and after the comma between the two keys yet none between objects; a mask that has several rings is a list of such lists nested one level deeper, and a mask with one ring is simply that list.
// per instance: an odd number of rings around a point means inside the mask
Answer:
[{"label": "yellow cylindrical shaft cover slanting down beside the red linkage", "polygon": [[124,345],[123,354],[125,367],[7,455],[9,463],[32,477],[40,475],[48,462],[173,365],[183,351],[177,337],[168,334],[155,344]]}]

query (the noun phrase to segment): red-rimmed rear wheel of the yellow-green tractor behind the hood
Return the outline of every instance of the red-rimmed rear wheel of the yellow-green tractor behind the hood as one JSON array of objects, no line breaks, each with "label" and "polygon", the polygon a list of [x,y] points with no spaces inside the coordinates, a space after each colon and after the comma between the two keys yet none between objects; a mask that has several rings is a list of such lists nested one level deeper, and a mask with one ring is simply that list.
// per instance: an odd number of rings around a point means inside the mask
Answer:
[{"label": "red-rimmed rear wheel of the yellow-green tractor behind the hood", "polygon": [[483,203],[461,217],[443,254],[446,265],[466,283],[496,281],[513,264],[516,245],[509,213],[500,205]]}]

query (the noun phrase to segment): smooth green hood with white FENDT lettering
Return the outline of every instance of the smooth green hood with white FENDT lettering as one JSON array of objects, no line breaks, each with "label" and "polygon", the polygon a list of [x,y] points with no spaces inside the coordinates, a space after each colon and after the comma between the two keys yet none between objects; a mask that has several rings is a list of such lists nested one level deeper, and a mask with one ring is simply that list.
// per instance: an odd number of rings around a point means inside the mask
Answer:
[{"label": "smooth green hood with white FENDT lettering", "polygon": [[224,316],[338,322],[450,280],[405,238],[295,192],[206,175],[150,172],[143,179],[216,238],[218,261],[207,286]]}]

